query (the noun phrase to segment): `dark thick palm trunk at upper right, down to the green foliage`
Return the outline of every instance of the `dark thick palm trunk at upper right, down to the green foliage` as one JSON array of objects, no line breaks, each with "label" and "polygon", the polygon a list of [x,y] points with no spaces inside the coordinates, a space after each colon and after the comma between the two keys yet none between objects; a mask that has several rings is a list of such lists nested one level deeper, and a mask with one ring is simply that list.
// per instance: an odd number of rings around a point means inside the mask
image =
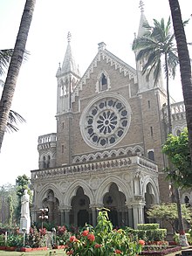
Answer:
[{"label": "dark thick palm trunk at upper right, down to the green foliage", "polygon": [[178,0],[168,0],[171,16],[174,25],[175,39],[178,50],[178,57],[180,63],[180,73],[182,78],[182,93],[186,109],[186,120],[189,132],[189,149],[192,163],[192,77],[191,65],[189,59],[189,51],[187,40],[185,36],[184,27],[182,24],[182,14]]}]

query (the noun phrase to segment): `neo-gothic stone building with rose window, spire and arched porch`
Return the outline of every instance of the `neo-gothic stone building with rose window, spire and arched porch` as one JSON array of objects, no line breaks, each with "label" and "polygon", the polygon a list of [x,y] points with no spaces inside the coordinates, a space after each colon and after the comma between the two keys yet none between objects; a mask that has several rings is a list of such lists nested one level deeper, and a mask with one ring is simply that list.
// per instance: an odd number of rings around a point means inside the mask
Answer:
[{"label": "neo-gothic stone building with rose window, spire and arched porch", "polygon": [[[143,33],[143,10],[138,35]],[[167,134],[167,93],[99,43],[81,77],[71,50],[58,67],[57,133],[38,138],[39,170],[31,170],[32,221],[48,207],[50,223],[96,224],[98,208],[113,225],[147,221],[150,204],[169,200],[161,170]],[[173,133],[186,126],[183,102],[171,106]],[[190,198],[189,194],[183,194]],[[191,199],[190,199],[191,200]]]}]

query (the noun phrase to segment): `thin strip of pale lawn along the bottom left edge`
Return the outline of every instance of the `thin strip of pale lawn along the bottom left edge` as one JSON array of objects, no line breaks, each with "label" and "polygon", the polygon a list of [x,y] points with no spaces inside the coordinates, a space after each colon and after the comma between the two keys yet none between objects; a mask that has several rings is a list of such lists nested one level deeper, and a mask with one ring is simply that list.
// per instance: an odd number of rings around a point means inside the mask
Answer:
[{"label": "thin strip of pale lawn along the bottom left edge", "polygon": [[[54,253],[55,252],[55,253]],[[24,252],[8,252],[8,251],[1,251],[0,250],[0,256],[58,256],[58,255],[63,255],[65,256],[66,254],[64,253],[64,250],[53,250],[53,249],[48,249],[47,251],[36,251],[32,253],[24,253]]]}]

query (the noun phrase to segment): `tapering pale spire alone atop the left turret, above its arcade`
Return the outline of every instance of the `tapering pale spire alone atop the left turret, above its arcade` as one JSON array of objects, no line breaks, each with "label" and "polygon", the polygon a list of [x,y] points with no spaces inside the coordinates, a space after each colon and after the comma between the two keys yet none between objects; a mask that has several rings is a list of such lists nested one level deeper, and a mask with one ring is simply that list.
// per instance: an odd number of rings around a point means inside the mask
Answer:
[{"label": "tapering pale spire alone atop the left turret, above its arcade", "polygon": [[72,56],[71,40],[72,40],[72,34],[68,32],[67,34],[68,45],[66,48],[63,65],[61,66],[61,73],[73,73],[80,76],[79,68],[76,66],[75,60]]}]

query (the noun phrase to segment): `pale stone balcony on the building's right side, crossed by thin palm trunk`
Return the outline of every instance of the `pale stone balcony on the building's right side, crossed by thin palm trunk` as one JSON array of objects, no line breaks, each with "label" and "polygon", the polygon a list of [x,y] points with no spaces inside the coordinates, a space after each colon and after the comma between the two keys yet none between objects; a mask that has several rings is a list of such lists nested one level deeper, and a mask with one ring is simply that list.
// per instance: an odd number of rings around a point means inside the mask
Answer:
[{"label": "pale stone balcony on the building's right side, crossed by thin palm trunk", "polygon": [[[164,120],[168,123],[168,106],[162,108]],[[183,101],[171,104],[172,121],[185,120],[185,105]]]}]

